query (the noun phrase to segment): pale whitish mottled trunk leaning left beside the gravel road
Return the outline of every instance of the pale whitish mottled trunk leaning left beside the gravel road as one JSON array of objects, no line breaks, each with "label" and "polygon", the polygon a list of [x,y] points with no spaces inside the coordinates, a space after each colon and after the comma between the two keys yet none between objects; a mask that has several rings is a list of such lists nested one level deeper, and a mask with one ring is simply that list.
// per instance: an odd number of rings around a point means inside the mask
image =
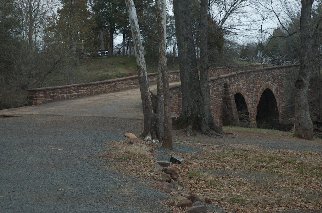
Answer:
[{"label": "pale whitish mottled trunk leaning left beside the gravel road", "polygon": [[138,80],[140,84],[141,100],[143,107],[144,130],[140,137],[143,137],[146,140],[156,139],[155,129],[152,125],[154,113],[150,96],[150,88],[147,81],[147,66],[144,59],[141,34],[137,22],[137,14],[133,0],[125,0],[125,3],[128,9],[128,19],[131,25],[131,31],[133,36],[134,51],[137,61]]}]

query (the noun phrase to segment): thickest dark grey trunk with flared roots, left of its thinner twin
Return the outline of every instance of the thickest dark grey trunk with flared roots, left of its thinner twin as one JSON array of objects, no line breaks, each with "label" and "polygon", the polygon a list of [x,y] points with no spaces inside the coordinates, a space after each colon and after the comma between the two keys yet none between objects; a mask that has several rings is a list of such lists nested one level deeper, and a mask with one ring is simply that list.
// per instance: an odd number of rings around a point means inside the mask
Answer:
[{"label": "thickest dark grey trunk with flared roots, left of its thinner twin", "polygon": [[188,135],[190,129],[197,129],[207,135],[223,136],[210,129],[208,119],[205,119],[204,95],[198,78],[188,1],[174,0],[173,8],[182,88],[182,113],[174,122],[174,127],[187,128]]}]

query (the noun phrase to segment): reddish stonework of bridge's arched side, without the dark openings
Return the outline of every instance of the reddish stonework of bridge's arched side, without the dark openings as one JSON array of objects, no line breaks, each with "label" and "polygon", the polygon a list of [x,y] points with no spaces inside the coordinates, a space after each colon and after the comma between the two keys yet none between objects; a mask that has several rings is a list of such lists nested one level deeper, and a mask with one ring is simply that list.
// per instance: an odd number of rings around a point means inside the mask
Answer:
[{"label": "reddish stonework of bridge's arched side, without the dark openings", "polygon": [[[232,109],[231,114],[237,115],[234,94],[241,93],[247,104],[250,126],[256,127],[257,105],[265,89],[270,89],[274,94],[279,111],[279,122],[283,122],[283,116],[294,108],[297,73],[297,66],[289,65],[255,68],[209,78],[210,108],[215,123],[221,126],[223,123],[222,116],[225,113],[227,114],[227,111],[223,113],[223,102],[232,103],[229,107],[229,109]],[[224,90],[225,83],[226,88]],[[225,95],[224,91],[226,91]],[[154,96],[155,93],[156,91],[152,91]],[[170,93],[172,113],[180,114],[182,109],[181,86],[170,86]],[[227,99],[227,94],[230,94],[230,100],[224,101],[223,97]]]}]

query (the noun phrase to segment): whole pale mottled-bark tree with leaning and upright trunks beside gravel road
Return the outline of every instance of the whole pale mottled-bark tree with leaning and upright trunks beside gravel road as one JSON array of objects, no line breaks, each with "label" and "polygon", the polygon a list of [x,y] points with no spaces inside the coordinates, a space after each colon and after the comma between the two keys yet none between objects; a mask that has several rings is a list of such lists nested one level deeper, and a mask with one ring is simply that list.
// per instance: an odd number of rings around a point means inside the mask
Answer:
[{"label": "whole pale mottled-bark tree with leaning and upright trunks beside gravel road", "polygon": [[[158,73],[158,91],[156,113],[153,111],[149,84],[147,81],[147,67],[143,54],[143,46],[141,40],[140,29],[137,21],[137,15],[133,0],[126,0],[128,17],[131,26],[135,56],[137,60],[138,79],[141,91],[141,100],[143,106],[144,130],[141,137],[146,140],[163,140],[163,146],[166,149],[172,149],[171,134],[171,111],[170,111],[170,93],[167,79],[166,68],[166,45],[165,45],[165,2],[156,1],[159,28],[159,73]],[[166,93],[164,95],[164,93]],[[162,97],[166,97],[166,101]],[[164,122],[164,118],[166,121]],[[170,121],[169,121],[170,120]],[[162,125],[160,125],[162,123]],[[164,126],[163,126],[164,124]],[[169,126],[170,125],[170,126]],[[164,133],[166,134],[164,137]],[[164,137],[164,138],[163,138]]]}]

